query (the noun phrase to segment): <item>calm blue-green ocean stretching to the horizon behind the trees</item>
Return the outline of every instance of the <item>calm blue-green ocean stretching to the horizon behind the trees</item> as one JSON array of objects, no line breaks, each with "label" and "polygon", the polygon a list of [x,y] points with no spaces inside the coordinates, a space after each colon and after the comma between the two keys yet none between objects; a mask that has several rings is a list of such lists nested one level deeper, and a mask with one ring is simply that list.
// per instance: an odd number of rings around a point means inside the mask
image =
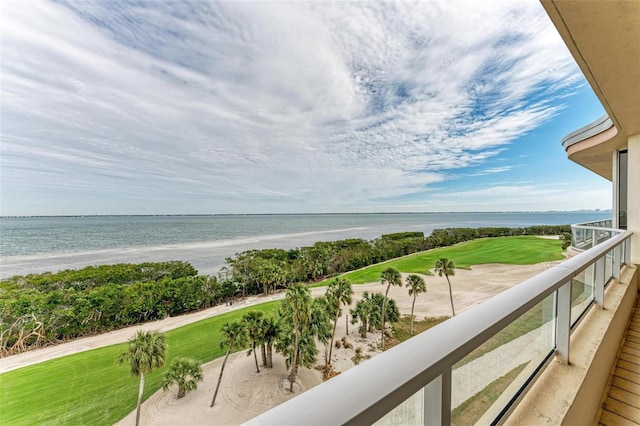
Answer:
[{"label": "calm blue-green ocean stretching to the horizon behind the trees", "polygon": [[610,212],[390,213],[0,218],[0,277],[87,265],[185,260],[215,274],[225,258],[250,249],[316,241],[374,239],[436,228],[560,225]]}]

